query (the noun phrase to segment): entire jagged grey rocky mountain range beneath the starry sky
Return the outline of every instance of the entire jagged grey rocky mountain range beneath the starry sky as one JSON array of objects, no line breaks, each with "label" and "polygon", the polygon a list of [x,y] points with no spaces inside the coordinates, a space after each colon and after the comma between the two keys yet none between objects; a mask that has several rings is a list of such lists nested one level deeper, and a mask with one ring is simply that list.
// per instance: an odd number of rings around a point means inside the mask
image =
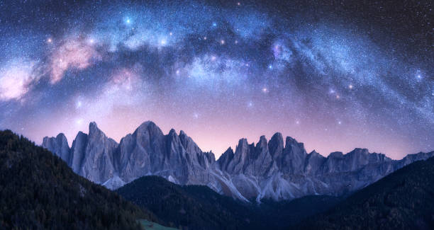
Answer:
[{"label": "entire jagged grey rocky mountain range beneath the starry sky", "polygon": [[208,187],[240,200],[287,200],[305,195],[345,195],[363,188],[430,153],[411,154],[399,161],[384,154],[354,149],[328,157],[307,154],[304,144],[282,134],[257,144],[240,139],[216,161],[183,131],[163,134],[154,122],[144,122],[118,144],[95,122],[89,134],[79,132],[69,149],[64,134],[45,137],[43,147],[60,156],[75,173],[116,189],[136,178],[157,175],[180,185]]}]

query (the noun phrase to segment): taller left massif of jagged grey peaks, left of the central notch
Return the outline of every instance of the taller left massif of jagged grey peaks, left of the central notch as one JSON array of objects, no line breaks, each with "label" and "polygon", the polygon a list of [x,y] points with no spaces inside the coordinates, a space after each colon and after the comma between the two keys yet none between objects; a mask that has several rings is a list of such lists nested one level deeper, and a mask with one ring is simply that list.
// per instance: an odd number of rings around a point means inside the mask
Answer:
[{"label": "taller left massif of jagged grey peaks, left of the central notch", "polygon": [[157,175],[179,184],[203,184],[216,161],[184,132],[162,133],[154,122],[144,122],[118,144],[89,124],[89,134],[79,132],[69,149],[65,135],[45,137],[43,147],[60,156],[85,178],[115,189],[135,178]]}]

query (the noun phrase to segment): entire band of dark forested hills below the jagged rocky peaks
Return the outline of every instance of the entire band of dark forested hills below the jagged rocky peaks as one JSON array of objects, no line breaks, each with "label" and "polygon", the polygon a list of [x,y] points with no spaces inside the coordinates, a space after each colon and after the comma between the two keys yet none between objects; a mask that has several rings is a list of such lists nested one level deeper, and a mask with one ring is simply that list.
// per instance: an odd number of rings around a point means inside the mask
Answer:
[{"label": "entire band of dark forested hills below the jagged rocky peaks", "polygon": [[433,229],[433,188],[431,157],[341,197],[243,202],[159,176],[111,191],[0,131],[0,229]]}]

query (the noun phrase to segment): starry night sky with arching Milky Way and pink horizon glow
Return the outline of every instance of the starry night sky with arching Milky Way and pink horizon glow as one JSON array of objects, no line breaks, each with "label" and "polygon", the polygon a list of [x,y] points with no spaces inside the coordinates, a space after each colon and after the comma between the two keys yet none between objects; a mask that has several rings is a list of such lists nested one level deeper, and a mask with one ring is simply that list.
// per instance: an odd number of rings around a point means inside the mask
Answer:
[{"label": "starry night sky with arching Milky Way and pink horizon glow", "polygon": [[2,1],[0,129],[434,150],[430,1]]}]

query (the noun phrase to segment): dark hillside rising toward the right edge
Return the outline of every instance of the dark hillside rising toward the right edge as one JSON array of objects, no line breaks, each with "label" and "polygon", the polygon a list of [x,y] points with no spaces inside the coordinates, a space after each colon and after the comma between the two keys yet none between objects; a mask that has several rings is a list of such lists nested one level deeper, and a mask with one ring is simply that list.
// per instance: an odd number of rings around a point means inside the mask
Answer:
[{"label": "dark hillside rising toward the right edge", "polygon": [[434,229],[434,158],[367,186],[303,229]]}]

